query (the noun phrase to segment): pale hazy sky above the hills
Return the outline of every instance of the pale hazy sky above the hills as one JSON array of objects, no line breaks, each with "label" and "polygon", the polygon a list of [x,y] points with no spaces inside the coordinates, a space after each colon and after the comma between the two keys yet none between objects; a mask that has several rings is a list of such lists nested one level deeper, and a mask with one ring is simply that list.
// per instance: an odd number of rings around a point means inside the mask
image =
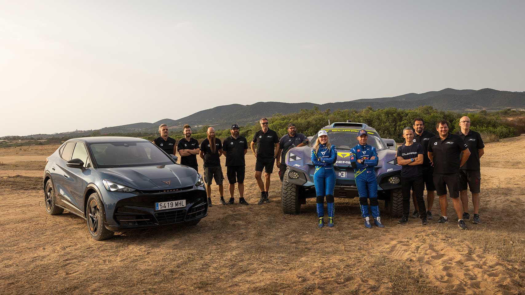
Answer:
[{"label": "pale hazy sky above the hills", "polygon": [[525,90],[525,1],[0,7],[0,136],[179,119],[230,103]]}]

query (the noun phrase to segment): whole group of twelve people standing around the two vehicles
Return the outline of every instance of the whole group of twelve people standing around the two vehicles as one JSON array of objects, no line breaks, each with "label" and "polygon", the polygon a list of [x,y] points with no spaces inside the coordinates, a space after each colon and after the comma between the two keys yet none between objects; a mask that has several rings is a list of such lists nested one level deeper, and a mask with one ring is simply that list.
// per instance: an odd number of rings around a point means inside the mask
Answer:
[{"label": "whole group of twelve people standing around the two vehicles", "polygon": [[[295,147],[309,144],[308,138],[297,132],[295,124],[288,124],[288,134],[278,138],[274,130],[269,129],[268,119],[260,121],[261,130],[255,133],[250,142],[250,149],[256,157],[255,178],[261,196],[257,204],[270,203],[269,187],[270,176],[277,162],[279,176],[282,181],[286,171],[286,153]],[[484,143],[479,133],[470,130],[470,119],[463,117],[459,125],[461,130],[457,134],[450,134],[448,122],[439,121],[436,124],[438,135],[425,131],[425,122],[416,118],[413,128],[403,130],[405,142],[398,147],[396,161],[401,169],[401,186],[403,195],[403,216],[399,224],[406,224],[409,217],[409,207],[412,192],[415,211],[411,217],[421,218],[422,224],[427,225],[427,219],[432,219],[432,206],[435,191],[439,197],[441,217],[438,223],[448,222],[447,216],[447,188],[453,200],[454,209],[458,217],[458,226],[467,229],[465,220],[470,218],[468,213],[467,188],[472,193],[474,216],[472,223],[481,223],[479,217],[479,192],[480,192],[480,164],[479,158],[484,153]],[[249,205],[244,198],[245,155],[248,151],[248,142],[244,136],[239,135],[239,126],[233,124],[230,128],[231,135],[223,142],[215,137],[215,130],[207,130],[207,138],[198,143],[192,138],[190,125],[184,125],[182,138],[178,145],[168,136],[169,129],[166,124],[159,127],[161,136],[153,143],[158,145],[168,154],[181,156],[181,164],[193,167],[198,171],[196,155],[204,160],[204,182],[208,196],[208,206],[213,206],[211,199],[212,181],[218,186],[220,204],[234,204],[235,184],[239,191],[239,204]],[[354,169],[355,183],[359,192],[361,214],[364,226],[384,227],[381,222],[379,203],[377,202],[377,181],[375,166],[378,163],[377,151],[374,146],[367,144],[366,130],[358,132],[358,144],[350,150],[350,162]],[[223,172],[220,165],[220,156],[226,157],[227,178],[229,182],[229,201],[224,199]],[[337,161],[337,150],[330,144],[328,133],[319,131],[316,142],[311,151],[312,164],[315,166],[313,181],[316,188],[316,203],[318,213],[318,226],[324,226],[324,198],[328,208],[328,226],[334,226],[334,186],[335,171],[333,164]],[[262,171],[264,170],[264,181]],[[423,199],[424,189],[427,191],[427,205]],[[370,201],[370,206],[369,206]],[[370,210],[369,210],[370,207]],[[428,208],[428,209],[427,209]]]}]

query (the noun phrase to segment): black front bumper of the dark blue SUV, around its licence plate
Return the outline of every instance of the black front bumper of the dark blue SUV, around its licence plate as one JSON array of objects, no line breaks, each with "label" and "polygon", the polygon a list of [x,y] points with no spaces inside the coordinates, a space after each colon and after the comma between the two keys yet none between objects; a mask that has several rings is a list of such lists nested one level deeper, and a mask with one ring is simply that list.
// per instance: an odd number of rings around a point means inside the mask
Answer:
[{"label": "black front bumper of the dark blue SUV, around its licence plate", "polygon": [[[178,192],[114,193],[104,191],[104,226],[113,231],[187,222],[207,216],[204,187],[191,186]],[[184,208],[155,210],[155,203],[185,199]]]}]

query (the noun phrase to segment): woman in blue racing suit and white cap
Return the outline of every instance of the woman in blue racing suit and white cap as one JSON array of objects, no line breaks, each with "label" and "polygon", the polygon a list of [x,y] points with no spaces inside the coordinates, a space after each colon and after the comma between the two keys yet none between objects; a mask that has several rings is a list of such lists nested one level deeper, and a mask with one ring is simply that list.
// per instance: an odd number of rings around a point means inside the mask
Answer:
[{"label": "woman in blue racing suit and white cap", "polygon": [[335,171],[333,163],[337,160],[337,151],[335,145],[330,145],[328,133],[321,130],[318,133],[316,143],[313,145],[311,152],[312,164],[316,166],[313,173],[313,184],[316,187],[317,194],[317,216],[319,218],[319,227],[324,226],[324,197],[327,197],[328,207],[328,226],[334,226],[333,214],[333,188],[335,186]]}]

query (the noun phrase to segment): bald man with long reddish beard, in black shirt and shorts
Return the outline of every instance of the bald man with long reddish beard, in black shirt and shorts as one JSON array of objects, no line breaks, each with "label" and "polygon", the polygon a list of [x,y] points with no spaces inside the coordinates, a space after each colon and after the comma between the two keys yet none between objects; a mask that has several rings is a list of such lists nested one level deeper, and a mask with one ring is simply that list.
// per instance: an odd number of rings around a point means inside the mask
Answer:
[{"label": "bald man with long reddish beard, in black shirt and shorts", "polygon": [[215,129],[208,128],[208,138],[201,142],[199,156],[204,160],[204,182],[206,183],[206,194],[208,195],[208,206],[212,206],[212,180],[219,186],[220,204],[226,205],[224,201],[223,169],[220,166],[220,155],[223,146],[220,140],[215,138]]}]

